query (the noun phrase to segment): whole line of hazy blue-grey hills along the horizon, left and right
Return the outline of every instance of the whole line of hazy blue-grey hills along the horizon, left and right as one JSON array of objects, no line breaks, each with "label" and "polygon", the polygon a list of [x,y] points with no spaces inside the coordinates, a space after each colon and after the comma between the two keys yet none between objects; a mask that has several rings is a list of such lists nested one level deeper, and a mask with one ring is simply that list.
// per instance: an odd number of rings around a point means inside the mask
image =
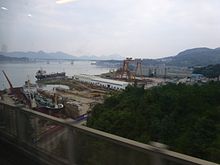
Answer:
[{"label": "whole line of hazy blue-grey hills along the horizon, left and right", "polygon": [[[38,52],[0,52],[0,55],[4,55],[7,57],[15,57],[15,58],[29,58],[29,59],[72,59],[72,60],[110,60],[110,63],[114,63],[117,60],[123,60],[124,57],[118,54],[112,54],[109,56],[97,57],[95,55],[92,56],[73,56],[63,52],[54,52],[47,53],[44,51]],[[210,48],[193,48],[187,49],[176,56],[170,56],[159,59],[143,59],[144,65],[160,65],[166,64],[167,66],[183,66],[183,67],[192,67],[192,66],[207,66],[220,64],[220,48],[210,49]]]}]

